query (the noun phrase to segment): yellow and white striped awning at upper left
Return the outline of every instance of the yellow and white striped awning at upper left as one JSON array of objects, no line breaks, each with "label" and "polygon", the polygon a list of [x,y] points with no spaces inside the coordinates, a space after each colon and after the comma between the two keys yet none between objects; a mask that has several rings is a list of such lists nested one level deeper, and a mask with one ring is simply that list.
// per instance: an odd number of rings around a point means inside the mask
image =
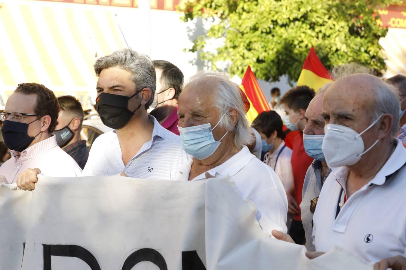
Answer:
[{"label": "yellow and white striped awning at upper left", "polygon": [[98,57],[125,47],[115,15],[102,7],[0,0],[0,107],[18,83],[94,102]]}]

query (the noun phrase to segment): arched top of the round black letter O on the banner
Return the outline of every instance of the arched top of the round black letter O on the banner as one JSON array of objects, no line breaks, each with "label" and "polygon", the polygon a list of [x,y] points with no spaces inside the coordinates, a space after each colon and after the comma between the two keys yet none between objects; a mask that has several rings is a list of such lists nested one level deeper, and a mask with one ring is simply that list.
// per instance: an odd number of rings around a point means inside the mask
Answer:
[{"label": "arched top of the round black letter O on the banner", "polygon": [[131,270],[141,261],[150,261],[158,266],[160,270],[168,270],[164,257],[155,249],[138,249],[125,259],[121,270]]}]

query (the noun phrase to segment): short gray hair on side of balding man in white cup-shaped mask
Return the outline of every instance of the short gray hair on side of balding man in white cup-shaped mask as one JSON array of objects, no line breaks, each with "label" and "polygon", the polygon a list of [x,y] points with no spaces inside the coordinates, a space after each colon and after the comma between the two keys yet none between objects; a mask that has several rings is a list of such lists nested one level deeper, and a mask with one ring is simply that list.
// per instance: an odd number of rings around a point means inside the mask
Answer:
[{"label": "short gray hair on side of balding man in white cup-shaped mask", "polygon": [[379,79],[379,81],[377,80],[377,82],[374,83],[373,88],[376,94],[373,119],[378,119],[382,113],[392,115],[393,126],[391,136],[393,137],[399,131],[399,90],[393,85],[384,82],[382,79]]}]

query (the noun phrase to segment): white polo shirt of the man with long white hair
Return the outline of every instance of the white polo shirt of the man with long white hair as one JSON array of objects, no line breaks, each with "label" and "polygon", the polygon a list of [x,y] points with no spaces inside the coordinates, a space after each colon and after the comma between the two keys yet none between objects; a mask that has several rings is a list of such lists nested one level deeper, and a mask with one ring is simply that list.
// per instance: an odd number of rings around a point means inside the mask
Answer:
[{"label": "white polo shirt of the man with long white hair", "polygon": [[[192,163],[190,159],[186,166],[179,168],[176,180],[188,181]],[[272,168],[251,154],[248,147],[208,172],[216,177],[231,176],[240,198],[257,206],[256,218],[262,230],[269,235],[272,230],[287,232],[287,198],[281,180]],[[192,181],[205,179],[203,173]]]}]

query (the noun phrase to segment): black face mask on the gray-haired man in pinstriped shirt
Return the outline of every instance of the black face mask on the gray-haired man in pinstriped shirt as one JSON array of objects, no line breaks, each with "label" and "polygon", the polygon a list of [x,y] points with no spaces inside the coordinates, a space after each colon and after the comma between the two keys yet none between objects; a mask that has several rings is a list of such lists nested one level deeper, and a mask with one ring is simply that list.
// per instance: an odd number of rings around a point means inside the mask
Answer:
[{"label": "black face mask on the gray-haired man in pinstriped shirt", "polygon": [[128,101],[134,97],[140,91],[137,91],[134,95],[120,96],[108,93],[102,93],[96,98],[96,111],[99,113],[102,122],[109,128],[118,130],[125,126],[134,115],[135,111],[140,108],[141,104],[134,111],[128,110]]}]

